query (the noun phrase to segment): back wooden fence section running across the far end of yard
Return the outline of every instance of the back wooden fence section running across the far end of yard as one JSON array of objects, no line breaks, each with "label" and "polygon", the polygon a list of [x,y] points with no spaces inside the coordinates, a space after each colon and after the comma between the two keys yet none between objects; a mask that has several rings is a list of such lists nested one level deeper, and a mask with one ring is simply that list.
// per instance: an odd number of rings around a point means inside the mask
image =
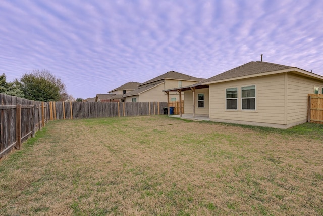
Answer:
[{"label": "back wooden fence section running across the far end of yard", "polygon": [[48,102],[50,120],[164,114],[167,102]]}]

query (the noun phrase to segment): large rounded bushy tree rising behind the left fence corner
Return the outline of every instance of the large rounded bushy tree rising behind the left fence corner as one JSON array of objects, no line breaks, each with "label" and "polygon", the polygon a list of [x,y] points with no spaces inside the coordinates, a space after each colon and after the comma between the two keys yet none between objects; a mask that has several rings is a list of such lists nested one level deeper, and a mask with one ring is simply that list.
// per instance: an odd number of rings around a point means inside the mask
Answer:
[{"label": "large rounded bushy tree rising behind the left fence corner", "polygon": [[35,101],[64,101],[68,94],[60,78],[48,70],[34,70],[25,73],[21,79],[21,90],[26,99]]}]

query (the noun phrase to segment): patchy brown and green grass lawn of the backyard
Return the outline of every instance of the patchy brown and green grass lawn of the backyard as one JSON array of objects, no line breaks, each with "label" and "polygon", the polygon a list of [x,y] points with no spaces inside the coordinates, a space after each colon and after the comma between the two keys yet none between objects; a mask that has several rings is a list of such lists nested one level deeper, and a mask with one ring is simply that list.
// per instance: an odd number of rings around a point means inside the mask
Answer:
[{"label": "patchy brown and green grass lawn of the backyard", "polygon": [[0,162],[0,215],[323,215],[323,125],[51,121]]}]

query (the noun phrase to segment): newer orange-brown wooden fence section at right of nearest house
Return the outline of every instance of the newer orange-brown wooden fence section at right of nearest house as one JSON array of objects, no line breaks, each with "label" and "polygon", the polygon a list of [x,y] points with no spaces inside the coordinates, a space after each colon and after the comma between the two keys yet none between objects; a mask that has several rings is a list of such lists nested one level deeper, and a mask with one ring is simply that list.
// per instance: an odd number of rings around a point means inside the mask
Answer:
[{"label": "newer orange-brown wooden fence section at right of nearest house", "polygon": [[323,124],[323,94],[308,94],[307,122]]}]

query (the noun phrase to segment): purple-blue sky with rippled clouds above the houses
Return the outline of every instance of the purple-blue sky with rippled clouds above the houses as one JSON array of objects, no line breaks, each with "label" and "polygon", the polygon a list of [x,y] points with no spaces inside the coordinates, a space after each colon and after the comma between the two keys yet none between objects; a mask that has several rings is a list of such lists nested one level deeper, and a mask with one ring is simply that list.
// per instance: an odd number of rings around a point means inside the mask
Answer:
[{"label": "purple-blue sky with rippled clouds above the houses", "polygon": [[209,78],[260,60],[323,75],[323,1],[2,0],[0,74],[35,69],[74,98],[167,71]]}]

